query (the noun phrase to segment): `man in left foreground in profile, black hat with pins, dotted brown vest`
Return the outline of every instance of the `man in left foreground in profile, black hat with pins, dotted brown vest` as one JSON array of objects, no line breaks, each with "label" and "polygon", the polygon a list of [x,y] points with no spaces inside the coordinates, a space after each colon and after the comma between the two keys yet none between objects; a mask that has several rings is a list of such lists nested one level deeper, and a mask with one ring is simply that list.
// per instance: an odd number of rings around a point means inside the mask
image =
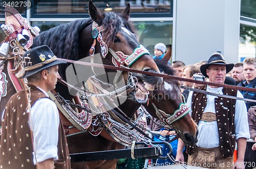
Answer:
[{"label": "man in left foreground in profile, black hat with pins, dotted brown vest", "polygon": [[4,110],[0,168],[71,168],[58,109],[47,94],[55,89],[61,63],[47,45],[24,54],[16,76],[28,84]]}]

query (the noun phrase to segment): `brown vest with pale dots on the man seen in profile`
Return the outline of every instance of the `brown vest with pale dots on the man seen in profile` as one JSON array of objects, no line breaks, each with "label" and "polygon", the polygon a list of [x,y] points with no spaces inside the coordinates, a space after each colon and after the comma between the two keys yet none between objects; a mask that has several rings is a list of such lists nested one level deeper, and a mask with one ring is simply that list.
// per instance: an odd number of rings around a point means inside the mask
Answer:
[{"label": "brown vest with pale dots on the man seen in profile", "polygon": [[[47,96],[36,87],[31,87],[31,106]],[[36,168],[33,163],[33,146],[31,131],[28,125],[27,92],[14,94],[8,101],[2,121],[0,147],[0,168]],[[56,168],[71,168],[69,150],[62,123],[59,125],[58,157],[54,162]]]}]

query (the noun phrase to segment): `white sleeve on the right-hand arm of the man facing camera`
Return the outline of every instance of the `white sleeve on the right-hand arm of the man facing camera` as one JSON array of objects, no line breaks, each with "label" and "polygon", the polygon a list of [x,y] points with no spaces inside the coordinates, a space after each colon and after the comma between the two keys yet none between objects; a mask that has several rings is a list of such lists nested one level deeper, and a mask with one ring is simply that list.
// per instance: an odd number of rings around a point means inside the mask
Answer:
[{"label": "white sleeve on the right-hand arm of the man facing camera", "polygon": [[[238,91],[237,97],[244,98],[240,91]],[[234,112],[234,125],[236,128],[236,139],[241,137],[247,139],[250,138],[247,109],[245,101],[243,100],[236,100],[236,111]]]}]

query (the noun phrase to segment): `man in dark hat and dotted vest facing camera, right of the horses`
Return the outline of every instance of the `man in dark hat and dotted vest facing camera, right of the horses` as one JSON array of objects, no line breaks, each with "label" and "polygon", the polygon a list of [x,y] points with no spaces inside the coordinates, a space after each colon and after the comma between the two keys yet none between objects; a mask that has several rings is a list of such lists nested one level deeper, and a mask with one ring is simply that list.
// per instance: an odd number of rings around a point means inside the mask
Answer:
[{"label": "man in dark hat and dotted vest facing camera, right of the horses", "polygon": [[[209,82],[223,84],[226,73],[233,68],[220,53],[213,53],[207,64],[200,67]],[[196,89],[221,95],[243,97],[233,89],[200,86]],[[190,115],[198,124],[198,143],[187,147],[188,165],[207,168],[244,168],[246,139],[249,139],[246,105],[243,100],[191,92],[187,99]],[[237,143],[237,161],[233,163],[233,152]],[[179,140],[176,160],[184,161]]]}]

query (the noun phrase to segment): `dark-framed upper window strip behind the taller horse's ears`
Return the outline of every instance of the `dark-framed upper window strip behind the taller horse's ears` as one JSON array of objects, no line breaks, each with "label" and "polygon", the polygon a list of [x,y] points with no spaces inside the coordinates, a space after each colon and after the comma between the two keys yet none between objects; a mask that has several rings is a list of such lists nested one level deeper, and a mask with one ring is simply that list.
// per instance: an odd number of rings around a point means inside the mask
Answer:
[{"label": "dark-framed upper window strip behind the taller horse's ears", "polygon": [[[173,16],[173,0],[133,0],[133,1],[93,1],[98,9],[105,11],[121,12],[128,3],[131,5],[132,14],[140,14],[154,17],[152,14],[158,16]],[[51,14],[51,15],[47,15]],[[57,14],[57,15],[52,15]],[[34,17],[61,17],[61,15],[67,17],[89,17],[88,1],[84,0],[51,0],[51,1],[38,1],[37,6],[32,10],[32,16]],[[162,14],[162,15],[161,15]],[[164,15],[163,15],[164,14]],[[136,17],[136,15],[133,17]]]}]

